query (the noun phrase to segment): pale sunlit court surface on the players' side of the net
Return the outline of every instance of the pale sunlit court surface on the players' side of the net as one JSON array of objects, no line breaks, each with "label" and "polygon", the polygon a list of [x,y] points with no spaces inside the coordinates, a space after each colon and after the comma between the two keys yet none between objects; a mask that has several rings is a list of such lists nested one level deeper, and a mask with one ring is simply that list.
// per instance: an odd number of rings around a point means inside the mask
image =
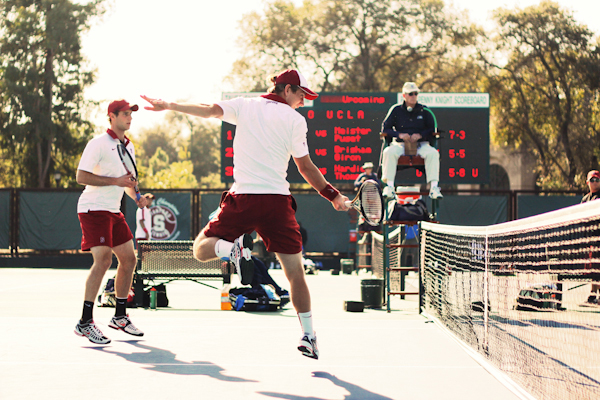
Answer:
[{"label": "pale sunlit court surface on the players' side of the net", "polygon": [[[271,275],[288,288],[282,271]],[[301,332],[291,304],[281,312],[221,311],[219,291],[176,281],[167,285],[168,308],[130,310],[142,338],[108,328],[114,309],[96,307],[94,319],[112,339],[99,346],[73,333],[87,270],[0,269],[0,276],[1,399],[519,398],[420,316],[416,296],[394,298],[389,314],[345,312],[344,300],[361,299],[366,273],[307,276],[319,360],[296,350]]]}]

